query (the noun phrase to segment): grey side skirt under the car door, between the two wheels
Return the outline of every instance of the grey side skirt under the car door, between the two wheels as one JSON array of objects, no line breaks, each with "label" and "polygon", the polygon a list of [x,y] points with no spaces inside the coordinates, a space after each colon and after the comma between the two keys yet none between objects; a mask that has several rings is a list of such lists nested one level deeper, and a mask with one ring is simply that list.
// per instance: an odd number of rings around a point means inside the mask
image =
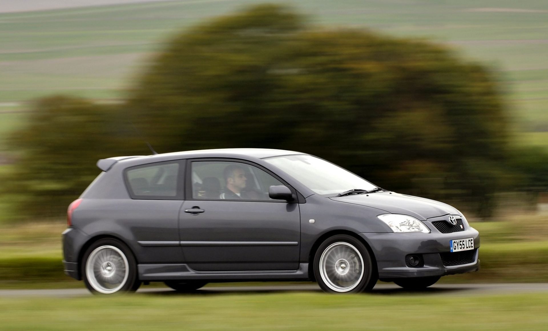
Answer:
[{"label": "grey side skirt under the car door, between the two wheels", "polygon": [[309,264],[299,264],[298,270],[271,271],[196,271],[186,264],[139,264],[137,266],[141,281],[207,280],[207,281],[274,281],[278,279],[309,279]]}]

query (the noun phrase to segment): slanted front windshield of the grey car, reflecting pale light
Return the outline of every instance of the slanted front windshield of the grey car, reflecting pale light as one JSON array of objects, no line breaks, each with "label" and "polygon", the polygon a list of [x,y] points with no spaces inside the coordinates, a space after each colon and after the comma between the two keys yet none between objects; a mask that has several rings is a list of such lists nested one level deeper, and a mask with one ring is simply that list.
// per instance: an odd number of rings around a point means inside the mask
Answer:
[{"label": "slanted front windshield of the grey car, reflecting pale light", "polygon": [[310,155],[287,155],[265,159],[319,195],[352,189],[373,190],[375,185],[333,163]]}]

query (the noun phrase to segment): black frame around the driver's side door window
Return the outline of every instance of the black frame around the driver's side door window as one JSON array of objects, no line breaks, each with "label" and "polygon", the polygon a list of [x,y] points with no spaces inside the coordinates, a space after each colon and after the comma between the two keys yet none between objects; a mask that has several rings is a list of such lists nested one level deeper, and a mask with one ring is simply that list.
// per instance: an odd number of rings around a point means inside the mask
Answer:
[{"label": "black frame around the driver's side door window", "polygon": [[[256,168],[259,168],[260,170],[263,170],[265,173],[271,175],[273,178],[280,181],[283,185],[286,185],[289,187],[289,190],[293,192],[293,194],[296,195],[297,201],[294,202],[287,202],[284,200],[248,200],[248,199],[195,199],[192,195],[192,162],[233,162],[233,163],[243,163],[247,164],[248,166],[253,166]],[[267,203],[305,203],[306,200],[304,196],[299,193],[293,186],[289,185],[289,183],[278,176],[277,174],[273,173],[270,169],[265,168],[264,166],[261,166],[258,163],[247,161],[244,159],[238,159],[238,158],[221,158],[221,157],[207,157],[207,158],[191,158],[187,159],[187,166],[186,166],[186,175],[185,175],[185,183],[189,183],[189,185],[185,185],[185,195],[187,201],[241,201],[241,202],[267,202]]]}]

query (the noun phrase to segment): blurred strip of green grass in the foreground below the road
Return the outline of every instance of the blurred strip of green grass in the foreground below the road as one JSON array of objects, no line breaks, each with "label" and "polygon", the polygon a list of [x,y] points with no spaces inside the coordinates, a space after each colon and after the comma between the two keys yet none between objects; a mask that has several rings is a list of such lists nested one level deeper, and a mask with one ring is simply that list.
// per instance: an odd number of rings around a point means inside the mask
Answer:
[{"label": "blurred strip of green grass in the foreground below the road", "polygon": [[0,320],[4,330],[88,330],[92,325],[103,330],[545,330],[546,309],[544,293],[138,294],[2,298]]}]

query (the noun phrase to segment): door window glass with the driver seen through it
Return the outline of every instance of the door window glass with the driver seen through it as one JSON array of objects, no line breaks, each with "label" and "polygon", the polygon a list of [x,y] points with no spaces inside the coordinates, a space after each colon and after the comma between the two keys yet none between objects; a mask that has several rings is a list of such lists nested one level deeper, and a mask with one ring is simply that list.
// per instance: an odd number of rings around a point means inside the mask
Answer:
[{"label": "door window glass with the driver seen through it", "polygon": [[195,199],[277,201],[269,198],[271,185],[283,184],[246,163],[192,162],[192,197]]}]

